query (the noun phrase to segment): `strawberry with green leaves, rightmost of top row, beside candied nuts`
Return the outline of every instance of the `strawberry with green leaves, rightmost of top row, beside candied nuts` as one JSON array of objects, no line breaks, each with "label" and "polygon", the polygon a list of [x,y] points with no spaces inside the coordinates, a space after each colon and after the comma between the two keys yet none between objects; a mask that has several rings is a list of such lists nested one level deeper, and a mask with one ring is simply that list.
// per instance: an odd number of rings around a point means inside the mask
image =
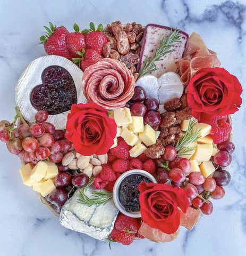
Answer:
[{"label": "strawberry with green leaves, rightmost of top row, beside candied nuts", "polygon": [[108,42],[108,38],[104,35],[103,25],[99,25],[98,28],[95,28],[94,23],[90,22],[90,29],[83,30],[82,32],[88,33],[86,38],[86,45],[88,48],[94,49],[98,53],[103,53],[103,47]]}]

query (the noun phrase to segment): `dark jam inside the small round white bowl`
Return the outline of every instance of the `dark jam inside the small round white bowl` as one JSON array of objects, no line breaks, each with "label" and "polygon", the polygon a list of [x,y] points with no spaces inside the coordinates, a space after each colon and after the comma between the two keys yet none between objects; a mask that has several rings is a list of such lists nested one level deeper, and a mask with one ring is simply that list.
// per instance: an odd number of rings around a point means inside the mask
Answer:
[{"label": "dark jam inside the small round white bowl", "polygon": [[142,181],[151,182],[150,179],[141,174],[131,174],[121,182],[119,199],[127,212],[140,211],[138,185]]}]

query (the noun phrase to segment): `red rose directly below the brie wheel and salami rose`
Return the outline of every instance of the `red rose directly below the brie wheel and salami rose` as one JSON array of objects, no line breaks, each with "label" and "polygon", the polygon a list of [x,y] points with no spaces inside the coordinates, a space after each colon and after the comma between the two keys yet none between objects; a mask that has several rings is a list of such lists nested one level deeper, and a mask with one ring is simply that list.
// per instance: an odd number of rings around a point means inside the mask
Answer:
[{"label": "red rose directly below the brie wheel and salami rose", "polygon": [[107,110],[95,103],[72,105],[65,137],[83,156],[104,155],[114,143],[116,123]]}]

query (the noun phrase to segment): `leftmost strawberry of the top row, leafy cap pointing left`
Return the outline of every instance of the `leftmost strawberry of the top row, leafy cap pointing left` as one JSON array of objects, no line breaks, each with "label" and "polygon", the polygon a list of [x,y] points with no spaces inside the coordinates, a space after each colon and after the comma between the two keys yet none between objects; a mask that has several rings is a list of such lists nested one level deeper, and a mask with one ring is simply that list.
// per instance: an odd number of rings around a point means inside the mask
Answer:
[{"label": "leftmost strawberry of the top row, leafy cap pointing left", "polygon": [[72,60],[65,41],[69,31],[64,27],[56,27],[51,22],[49,22],[49,26],[50,28],[44,26],[47,30],[47,35],[40,37],[41,44],[44,44],[46,53],[48,55],[59,55]]}]

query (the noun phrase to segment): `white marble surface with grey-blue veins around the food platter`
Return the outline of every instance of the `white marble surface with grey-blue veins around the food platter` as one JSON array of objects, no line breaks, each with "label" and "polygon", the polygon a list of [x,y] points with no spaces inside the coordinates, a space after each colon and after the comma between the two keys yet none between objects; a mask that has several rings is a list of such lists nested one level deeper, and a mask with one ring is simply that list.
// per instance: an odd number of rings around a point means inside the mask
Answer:
[{"label": "white marble surface with grey-blue veins around the food platter", "polygon": [[[213,4],[211,3],[213,2]],[[196,31],[244,86],[246,83],[246,2],[222,0],[0,0],[0,119],[14,116],[16,79],[28,63],[44,55],[39,36],[52,21],[72,30],[77,22],[107,24],[115,20],[159,23],[187,33]],[[244,86],[245,90],[245,86]],[[246,100],[245,91],[243,99]],[[228,168],[232,181],[214,213],[202,216],[192,231],[182,229],[172,243],[145,240],[130,246],[98,242],[60,226],[32,190],[22,184],[18,157],[0,143],[0,255],[246,255],[245,106],[233,116],[236,150]]]}]

